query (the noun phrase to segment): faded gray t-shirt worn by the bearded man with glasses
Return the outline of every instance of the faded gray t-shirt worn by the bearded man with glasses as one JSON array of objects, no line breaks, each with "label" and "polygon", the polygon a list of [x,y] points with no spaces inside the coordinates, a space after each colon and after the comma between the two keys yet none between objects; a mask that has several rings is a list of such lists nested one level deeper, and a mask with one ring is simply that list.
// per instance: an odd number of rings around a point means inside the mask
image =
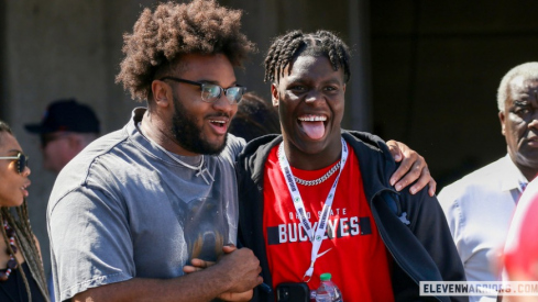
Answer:
[{"label": "faded gray t-shirt worn by the bearded man with glasses", "polygon": [[233,160],[244,141],[228,135],[220,155],[204,156],[215,178],[207,184],[141,135],[144,112],[135,109],[122,130],[91,143],[56,179],[47,225],[59,301],[134,277],[178,277],[191,258],[216,260],[235,243]]}]

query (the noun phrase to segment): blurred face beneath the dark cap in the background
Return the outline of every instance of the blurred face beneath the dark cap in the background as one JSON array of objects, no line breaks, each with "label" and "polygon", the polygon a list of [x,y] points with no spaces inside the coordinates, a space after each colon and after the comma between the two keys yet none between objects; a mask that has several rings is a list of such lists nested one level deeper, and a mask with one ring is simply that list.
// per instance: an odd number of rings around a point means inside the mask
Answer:
[{"label": "blurred face beneath the dark cap in the background", "polygon": [[73,134],[53,132],[42,136],[43,168],[55,174],[64,168],[75,157],[79,149]]}]

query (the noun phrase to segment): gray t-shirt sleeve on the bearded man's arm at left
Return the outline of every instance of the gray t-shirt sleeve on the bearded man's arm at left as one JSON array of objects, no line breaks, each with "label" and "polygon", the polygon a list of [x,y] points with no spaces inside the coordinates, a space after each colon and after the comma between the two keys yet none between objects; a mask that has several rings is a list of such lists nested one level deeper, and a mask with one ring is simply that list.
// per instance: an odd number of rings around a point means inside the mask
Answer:
[{"label": "gray t-shirt sleeve on the bearded man's arm at left", "polygon": [[128,211],[103,191],[81,187],[48,215],[53,271],[59,300],[134,277]]}]

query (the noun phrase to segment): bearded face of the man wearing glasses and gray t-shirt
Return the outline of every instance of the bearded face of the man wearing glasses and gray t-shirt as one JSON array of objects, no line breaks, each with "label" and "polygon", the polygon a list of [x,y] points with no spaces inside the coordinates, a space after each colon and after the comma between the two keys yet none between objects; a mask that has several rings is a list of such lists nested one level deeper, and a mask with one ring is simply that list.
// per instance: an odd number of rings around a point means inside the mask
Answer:
[{"label": "bearded face of the man wearing glasses and gray t-shirt", "polygon": [[[182,71],[174,77],[224,89],[235,86],[233,67],[224,55],[186,55],[182,65]],[[230,104],[223,91],[209,103],[201,100],[201,89],[196,85],[173,81],[169,85],[174,97],[171,128],[176,142],[195,154],[219,154],[226,146],[238,104]]]}]

